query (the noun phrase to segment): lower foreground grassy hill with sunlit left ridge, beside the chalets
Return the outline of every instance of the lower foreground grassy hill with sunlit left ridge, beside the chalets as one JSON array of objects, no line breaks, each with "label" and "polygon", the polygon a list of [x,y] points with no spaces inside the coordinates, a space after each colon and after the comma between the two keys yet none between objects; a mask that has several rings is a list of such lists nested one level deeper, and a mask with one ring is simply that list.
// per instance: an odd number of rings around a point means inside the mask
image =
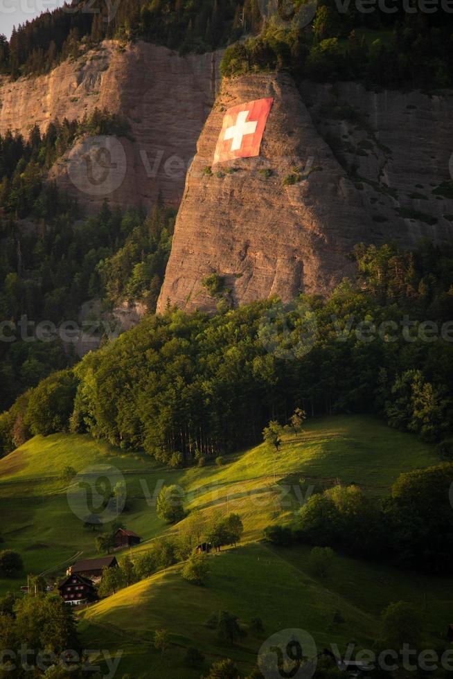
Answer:
[{"label": "lower foreground grassy hill with sunlit left ridge, beside the chalets", "polygon": [[[425,618],[426,642],[444,642],[453,599],[445,597],[445,581],[402,574],[339,557],[328,579],[320,581],[308,568],[309,549],[271,549],[250,543],[209,556],[211,576],[205,587],[184,582],[175,566],[82,611],[82,640],[112,652],[122,649],[120,668],[134,677],[171,678],[200,675],[184,666],[184,653],[195,646],[206,655],[204,670],[219,657],[233,658],[245,672],[256,663],[263,641],[286,628],[307,630],[319,650],[338,644],[344,650],[355,640],[372,648],[380,611],[405,599],[417,604]],[[235,646],[217,640],[206,627],[213,613],[228,610],[243,627],[261,617],[265,631],[250,633]],[[339,612],[344,622],[334,623]],[[152,646],[154,630],[166,628],[172,642],[168,660]],[[103,644],[103,645],[102,645]],[[431,647],[431,646],[429,646]]]}]

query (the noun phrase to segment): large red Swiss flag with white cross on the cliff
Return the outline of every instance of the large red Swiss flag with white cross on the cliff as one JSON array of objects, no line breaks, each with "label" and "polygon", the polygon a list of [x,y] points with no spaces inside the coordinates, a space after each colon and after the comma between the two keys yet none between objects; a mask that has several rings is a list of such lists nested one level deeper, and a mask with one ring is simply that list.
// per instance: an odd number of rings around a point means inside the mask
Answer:
[{"label": "large red Swiss flag with white cross on the cliff", "polygon": [[234,158],[260,155],[267,118],[273,98],[257,99],[228,109],[215,147],[214,165]]}]

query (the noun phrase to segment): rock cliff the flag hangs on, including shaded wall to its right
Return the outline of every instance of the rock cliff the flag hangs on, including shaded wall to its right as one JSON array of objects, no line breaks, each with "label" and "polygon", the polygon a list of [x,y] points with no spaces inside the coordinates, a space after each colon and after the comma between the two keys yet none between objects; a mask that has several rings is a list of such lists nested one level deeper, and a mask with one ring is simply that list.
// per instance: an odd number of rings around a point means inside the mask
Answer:
[{"label": "rock cliff the flag hangs on, including shaded wall to its right", "polygon": [[[211,174],[225,110],[268,96],[260,158]],[[452,105],[348,84],[299,92],[284,74],[224,81],[188,172],[158,311],[213,310],[210,274],[235,305],[288,301],[350,274],[355,243],[451,238],[453,201],[438,187],[450,179]],[[293,175],[301,181],[290,184]]]}]

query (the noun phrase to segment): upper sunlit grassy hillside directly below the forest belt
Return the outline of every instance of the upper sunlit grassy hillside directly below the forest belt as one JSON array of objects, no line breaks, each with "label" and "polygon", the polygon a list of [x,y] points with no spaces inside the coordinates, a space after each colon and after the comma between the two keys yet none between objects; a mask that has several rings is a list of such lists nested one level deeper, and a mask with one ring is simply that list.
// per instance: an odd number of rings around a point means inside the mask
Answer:
[{"label": "upper sunlit grassy hillside directly below the forest belt", "polygon": [[[125,455],[89,436],[37,436],[28,441],[0,460],[2,547],[17,549],[25,564],[19,578],[0,580],[0,591],[18,589],[27,573],[64,572],[80,552],[96,555],[96,533],[84,528],[69,507],[66,493],[78,479],[69,484],[62,480],[66,466],[78,473],[99,465],[119,470],[128,497],[121,521],[145,541],[168,530],[156,515],[152,497],[165,483],[181,485],[187,508],[199,509],[206,518],[215,510],[238,511],[247,542],[259,539],[267,524],[290,513],[306,493],[336,479],[384,495],[400,473],[435,464],[438,458],[432,446],[375,418],[335,416],[309,421],[302,434],[288,434],[276,454],[263,444],[225,461],[220,468],[168,470],[150,457]],[[146,542],[138,551],[144,549]]]}]

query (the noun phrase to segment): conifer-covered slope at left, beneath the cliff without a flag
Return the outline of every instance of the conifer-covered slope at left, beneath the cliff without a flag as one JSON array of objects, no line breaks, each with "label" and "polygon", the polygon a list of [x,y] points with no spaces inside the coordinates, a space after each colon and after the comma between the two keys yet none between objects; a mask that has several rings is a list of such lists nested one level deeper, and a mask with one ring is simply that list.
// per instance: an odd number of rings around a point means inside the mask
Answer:
[{"label": "conifer-covered slope at left, beneath the cliff without a flag", "polygon": [[80,305],[95,297],[106,310],[121,299],[155,309],[174,211],[159,203],[146,218],[140,210],[112,213],[105,204],[82,220],[77,203],[46,180],[76,139],[99,134],[128,136],[130,127],[118,114],[95,109],[81,121],[54,121],[44,133],[34,125],[28,139],[0,135],[1,411],[75,360],[73,344],[61,337],[33,341],[37,324],[78,321]]}]

